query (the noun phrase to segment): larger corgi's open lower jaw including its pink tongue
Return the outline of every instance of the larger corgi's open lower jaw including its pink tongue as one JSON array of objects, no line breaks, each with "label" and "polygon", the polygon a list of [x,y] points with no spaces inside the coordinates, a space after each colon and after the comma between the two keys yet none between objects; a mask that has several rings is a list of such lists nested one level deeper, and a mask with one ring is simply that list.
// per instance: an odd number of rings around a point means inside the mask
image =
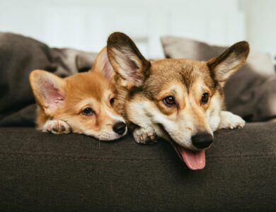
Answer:
[{"label": "larger corgi's open lower jaw including its pink tongue", "polygon": [[183,146],[178,145],[178,143],[171,141],[173,148],[181,160],[187,165],[190,170],[202,170],[205,167],[205,150],[194,151]]}]

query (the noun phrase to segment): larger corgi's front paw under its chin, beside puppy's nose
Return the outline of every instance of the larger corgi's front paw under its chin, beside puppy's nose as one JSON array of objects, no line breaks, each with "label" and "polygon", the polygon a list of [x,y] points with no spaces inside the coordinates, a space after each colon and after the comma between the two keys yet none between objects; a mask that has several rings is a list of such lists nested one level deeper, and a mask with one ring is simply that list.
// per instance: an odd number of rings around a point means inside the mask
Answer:
[{"label": "larger corgi's front paw under its chin, beside puppy's nose", "polygon": [[133,132],[134,139],[137,143],[146,144],[146,143],[156,143],[156,134],[154,129],[151,127],[147,128],[137,128]]}]

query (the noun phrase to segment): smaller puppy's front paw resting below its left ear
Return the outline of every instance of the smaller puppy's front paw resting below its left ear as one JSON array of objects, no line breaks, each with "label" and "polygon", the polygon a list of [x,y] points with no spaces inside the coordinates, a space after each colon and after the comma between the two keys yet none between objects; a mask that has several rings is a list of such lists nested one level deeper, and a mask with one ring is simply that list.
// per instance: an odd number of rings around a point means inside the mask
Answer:
[{"label": "smaller puppy's front paw resting below its left ear", "polygon": [[44,124],[42,131],[52,134],[69,134],[71,129],[66,122],[59,119],[52,119]]}]

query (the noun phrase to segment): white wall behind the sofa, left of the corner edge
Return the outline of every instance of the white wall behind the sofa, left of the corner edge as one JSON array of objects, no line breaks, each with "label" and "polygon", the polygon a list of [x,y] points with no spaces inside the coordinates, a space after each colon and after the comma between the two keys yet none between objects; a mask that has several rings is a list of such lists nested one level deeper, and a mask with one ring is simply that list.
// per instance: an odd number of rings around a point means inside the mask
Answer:
[{"label": "white wall behind the sofa, left of the corner edge", "polygon": [[99,51],[110,33],[130,35],[146,57],[163,57],[161,35],[215,45],[246,39],[238,0],[1,0],[0,31],[55,47]]}]

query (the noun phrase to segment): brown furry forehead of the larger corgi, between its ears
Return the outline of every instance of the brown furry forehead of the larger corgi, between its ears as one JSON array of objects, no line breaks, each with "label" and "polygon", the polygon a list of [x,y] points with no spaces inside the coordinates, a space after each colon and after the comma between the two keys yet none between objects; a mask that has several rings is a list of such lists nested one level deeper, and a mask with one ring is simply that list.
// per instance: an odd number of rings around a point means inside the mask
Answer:
[{"label": "brown furry forehead of the larger corgi, between its ears", "polygon": [[190,59],[162,59],[151,61],[150,76],[145,85],[159,93],[168,84],[183,84],[189,90],[200,78],[206,86],[212,87],[213,80],[204,61]]}]

